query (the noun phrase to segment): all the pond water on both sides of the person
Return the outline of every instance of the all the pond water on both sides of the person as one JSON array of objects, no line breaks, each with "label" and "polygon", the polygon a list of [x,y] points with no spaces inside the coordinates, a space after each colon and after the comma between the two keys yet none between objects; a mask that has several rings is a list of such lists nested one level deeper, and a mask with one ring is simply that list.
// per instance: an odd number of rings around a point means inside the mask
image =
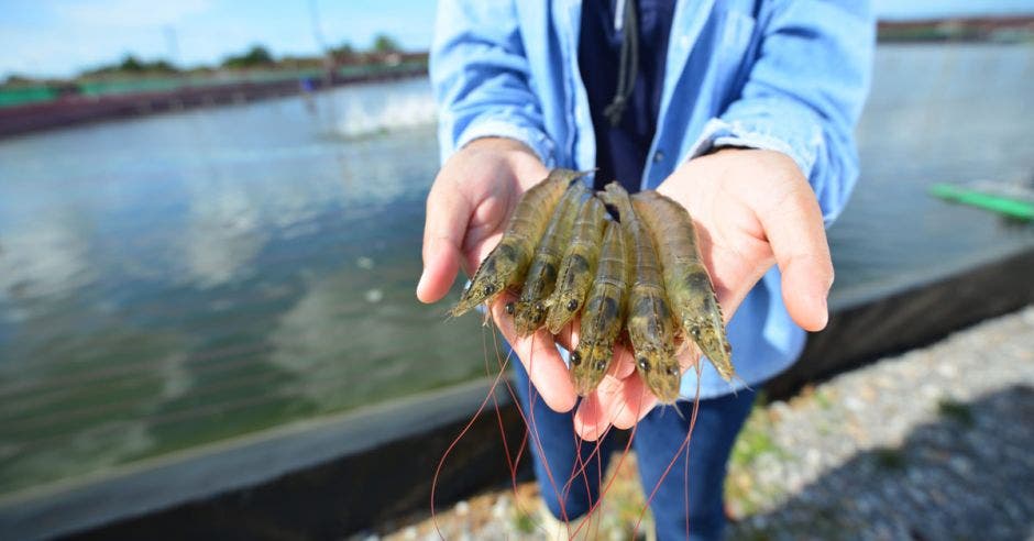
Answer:
[{"label": "all the pond water on both sides of the person", "polygon": [[[838,291],[1030,245],[930,199],[1028,178],[1034,47],[884,47]],[[0,142],[0,493],[483,372],[414,298],[425,81]]]}]

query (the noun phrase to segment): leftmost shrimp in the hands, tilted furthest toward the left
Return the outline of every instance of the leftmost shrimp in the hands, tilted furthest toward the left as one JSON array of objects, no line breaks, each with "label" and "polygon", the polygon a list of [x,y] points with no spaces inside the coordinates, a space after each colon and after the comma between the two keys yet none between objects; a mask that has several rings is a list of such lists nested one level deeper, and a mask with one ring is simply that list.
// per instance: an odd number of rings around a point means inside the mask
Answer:
[{"label": "leftmost shrimp in the hands, tilted furthest toward the left", "polygon": [[482,302],[492,302],[506,288],[524,281],[535,246],[546,231],[553,208],[568,185],[584,175],[570,169],[553,169],[521,196],[499,244],[481,263],[460,301],[452,307],[450,313],[453,317]]}]

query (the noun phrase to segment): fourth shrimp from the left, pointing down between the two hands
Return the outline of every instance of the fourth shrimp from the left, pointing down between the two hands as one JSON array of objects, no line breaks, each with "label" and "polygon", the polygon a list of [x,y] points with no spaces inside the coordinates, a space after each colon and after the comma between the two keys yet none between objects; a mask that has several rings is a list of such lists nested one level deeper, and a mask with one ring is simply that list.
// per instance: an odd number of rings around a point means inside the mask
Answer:
[{"label": "fourth shrimp from the left, pointing down between the two hands", "polygon": [[579,396],[600,385],[614,356],[614,342],[625,324],[629,274],[625,235],[614,221],[604,223],[600,264],[582,310],[578,347],[571,352],[571,379]]}]

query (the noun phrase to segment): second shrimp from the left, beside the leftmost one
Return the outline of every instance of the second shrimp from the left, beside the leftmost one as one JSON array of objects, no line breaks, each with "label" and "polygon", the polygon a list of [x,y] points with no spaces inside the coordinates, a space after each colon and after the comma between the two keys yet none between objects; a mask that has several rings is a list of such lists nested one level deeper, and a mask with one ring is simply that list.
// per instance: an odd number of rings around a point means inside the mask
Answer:
[{"label": "second shrimp from the left, beside the leftmost one", "polygon": [[568,188],[535,250],[520,297],[516,303],[506,305],[506,312],[514,316],[514,330],[518,336],[531,334],[546,321],[546,298],[553,292],[563,246],[571,236],[571,225],[586,195],[590,195],[588,188],[581,183]]}]

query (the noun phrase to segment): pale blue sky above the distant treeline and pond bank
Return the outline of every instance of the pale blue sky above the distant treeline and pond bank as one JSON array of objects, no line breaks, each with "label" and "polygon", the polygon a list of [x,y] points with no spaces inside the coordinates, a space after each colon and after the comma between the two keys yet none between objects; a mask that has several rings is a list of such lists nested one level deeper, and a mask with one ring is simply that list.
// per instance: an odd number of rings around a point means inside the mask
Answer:
[{"label": "pale blue sky above the distant treeline and pond bank", "polygon": [[[1034,13],[1034,0],[875,0],[882,19]],[[274,55],[314,55],[326,43],[366,47],[377,33],[407,49],[431,41],[435,0],[3,0],[0,77],[68,77],[125,54],[212,64],[261,43]]]}]

